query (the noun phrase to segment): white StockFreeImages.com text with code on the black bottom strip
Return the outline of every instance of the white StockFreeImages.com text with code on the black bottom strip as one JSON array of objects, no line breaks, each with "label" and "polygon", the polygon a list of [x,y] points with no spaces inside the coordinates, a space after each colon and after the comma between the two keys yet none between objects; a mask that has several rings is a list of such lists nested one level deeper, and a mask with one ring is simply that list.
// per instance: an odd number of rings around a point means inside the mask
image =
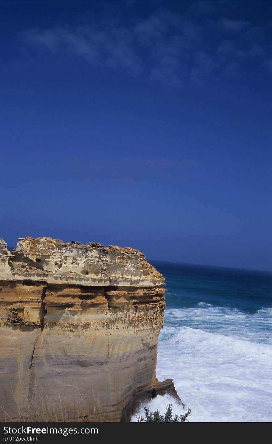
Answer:
[{"label": "white StockFreeImages.com text with code on the black bottom strip", "polygon": [[[43,427],[43,428],[39,428],[39,427],[4,427],[4,435],[39,435],[39,434],[43,434],[43,435],[63,435],[63,436],[67,436],[67,435],[76,435],[76,434],[85,434],[85,435],[89,435],[89,434],[98,434],[98,428],[87,428],[87,427],[83,427],[83,428],[62,428],[62,427]],[[11,439],[12,438],[12,439]],[[32,439],[31,439],[32,438]],[[38,439],[38,438],[37,438]],[[12,441],[13,440],[13,436],[4,436],[4,441]],[[34,438],[33,436],[22,436],[21,439],[18,439],[18,441],[30,441],[30,440],[36,440],[36,438]]]}]

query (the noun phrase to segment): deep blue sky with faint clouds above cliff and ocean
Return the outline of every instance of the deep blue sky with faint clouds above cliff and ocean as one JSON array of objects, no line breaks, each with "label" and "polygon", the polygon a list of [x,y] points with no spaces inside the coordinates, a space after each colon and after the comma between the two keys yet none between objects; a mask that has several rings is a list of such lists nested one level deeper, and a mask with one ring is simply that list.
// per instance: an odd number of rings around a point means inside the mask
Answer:
[{"label": "deep blue sky with faint clouds above cliff and ocean", "polygon": [[0,237],[272,271],[272,2],[0,1]]}]

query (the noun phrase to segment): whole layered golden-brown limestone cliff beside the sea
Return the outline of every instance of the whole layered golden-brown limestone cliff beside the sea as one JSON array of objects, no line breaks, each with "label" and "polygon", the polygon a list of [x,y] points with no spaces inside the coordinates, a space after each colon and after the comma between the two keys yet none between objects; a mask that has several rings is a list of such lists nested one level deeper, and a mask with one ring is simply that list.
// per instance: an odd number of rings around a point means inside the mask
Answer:
[{"label": "whole layered golden-brown limestone cliff beside the sea", "polygon": [[174,392],[155,371],[164,283],[132,248],[28,237],[11,254],[0,239],[1,420],[28,405],[129,420],[137,400]]}]

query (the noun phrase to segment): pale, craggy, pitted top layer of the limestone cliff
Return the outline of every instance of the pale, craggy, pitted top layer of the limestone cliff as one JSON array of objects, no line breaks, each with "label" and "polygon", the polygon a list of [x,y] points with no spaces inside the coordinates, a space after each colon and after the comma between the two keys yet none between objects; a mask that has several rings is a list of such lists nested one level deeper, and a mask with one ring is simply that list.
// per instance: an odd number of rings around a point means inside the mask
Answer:
[{"label": "pale, craggy, pitted top layer of the limestone cliff", "polygon": [[26,279],[95,286],[165,284],[162,274],[134,248],[27,237],[19,238],[11,254],[0,238],[0,280]]}]

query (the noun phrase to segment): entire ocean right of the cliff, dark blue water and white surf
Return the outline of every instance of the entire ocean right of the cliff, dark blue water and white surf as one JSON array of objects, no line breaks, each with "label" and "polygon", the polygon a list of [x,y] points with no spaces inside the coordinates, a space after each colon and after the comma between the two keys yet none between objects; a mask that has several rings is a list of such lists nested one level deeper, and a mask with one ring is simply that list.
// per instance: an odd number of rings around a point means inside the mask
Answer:
[{"label": "entire ocean right of the cliff, dark blue water and white surf", "polygon": [[[150,262],[167,288],[157,377],[173,379],[189,421],[271,422],[272,273]],[[167,404],[182,411],[170,396],[149,403]]]}]

